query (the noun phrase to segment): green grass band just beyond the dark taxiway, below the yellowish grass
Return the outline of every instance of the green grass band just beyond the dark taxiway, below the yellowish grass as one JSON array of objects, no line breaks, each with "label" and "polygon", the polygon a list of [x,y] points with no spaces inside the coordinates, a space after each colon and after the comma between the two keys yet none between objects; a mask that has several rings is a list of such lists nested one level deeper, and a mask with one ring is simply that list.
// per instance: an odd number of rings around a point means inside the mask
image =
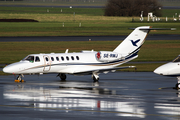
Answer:
[{"label": "green grass band just beyond the dark taxiway, below the yellowish grass", "polygon": [[[92,23],[91,23],[92,22]],[[147,23],[126,23],[126,22],[108,22],[99,21],[65,22],[63,23],[0,23],[0,36],[106,36],[106,35],[128,35],[138,26],[147,25]],[[149,23],[154,28],[177,28],[175,31],[151,31],[150,34],[179,34],[179,23]]]}]

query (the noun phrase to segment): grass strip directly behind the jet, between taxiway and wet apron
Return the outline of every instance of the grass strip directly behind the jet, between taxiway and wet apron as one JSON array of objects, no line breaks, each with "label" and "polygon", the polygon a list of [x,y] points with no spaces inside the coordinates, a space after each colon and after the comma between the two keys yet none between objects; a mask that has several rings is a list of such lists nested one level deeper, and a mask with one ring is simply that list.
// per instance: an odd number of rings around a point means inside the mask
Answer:
[{"label": "grass strip directly behind the jet, between taxiway and wet apron", "polygon": [[[112,51],[121,41],[1,42],[0,64],[17,62],[28,54],[81,50]],[[180,40],[147,40],[134,61],[171,61],[180,51]],[[47,49],[48,48],[48,49]]]}]

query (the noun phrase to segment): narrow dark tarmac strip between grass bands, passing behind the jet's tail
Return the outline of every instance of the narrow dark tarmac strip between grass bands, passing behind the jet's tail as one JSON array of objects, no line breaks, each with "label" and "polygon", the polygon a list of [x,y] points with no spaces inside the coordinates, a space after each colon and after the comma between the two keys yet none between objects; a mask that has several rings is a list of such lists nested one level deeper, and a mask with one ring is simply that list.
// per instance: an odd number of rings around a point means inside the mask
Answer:
[{"label": "narrow dark tarmac strip between grass bands, passing behind the jet's tail", "polygon": [[[127,35],[128,36],[128,35]],[[40,37],[0,37],[0,42],[27,41],[111,41],[124,40],[127,36],[40,36]],[[180,40],[180,35],[148,35],[146,40]]]}]

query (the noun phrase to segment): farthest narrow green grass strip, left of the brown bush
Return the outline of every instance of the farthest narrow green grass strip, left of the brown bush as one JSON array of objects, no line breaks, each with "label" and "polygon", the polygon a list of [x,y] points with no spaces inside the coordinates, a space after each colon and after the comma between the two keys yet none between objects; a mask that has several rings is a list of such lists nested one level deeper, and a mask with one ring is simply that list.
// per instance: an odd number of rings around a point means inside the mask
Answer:
[{"label": "farthest narrow green grass strip, left of the brown bush", "polygon": [[61,8],[61,7],[0,7],[3,14],[72,14],[101,16],[104,14],[103,8]]}]

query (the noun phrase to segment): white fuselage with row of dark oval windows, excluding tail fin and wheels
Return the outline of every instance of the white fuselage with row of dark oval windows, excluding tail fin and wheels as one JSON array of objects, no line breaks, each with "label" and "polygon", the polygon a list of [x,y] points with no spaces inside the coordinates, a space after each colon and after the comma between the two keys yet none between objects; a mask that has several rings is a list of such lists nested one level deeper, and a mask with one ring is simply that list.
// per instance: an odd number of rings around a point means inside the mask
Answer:
[{"label": "white fuselage with row of dark oval windows, excluding tail fin and wheels", "polygon": [[132,56],[129,58],[125,58],[122,55],[120,57],[118,56],[120,55],[109,51],[31,54],[20,62],[8,65],[3,69],[3,71],[11,74],[78,74],[81,72],[86,73],[95,69],[98,70],[116,67],[137,57]]}]

